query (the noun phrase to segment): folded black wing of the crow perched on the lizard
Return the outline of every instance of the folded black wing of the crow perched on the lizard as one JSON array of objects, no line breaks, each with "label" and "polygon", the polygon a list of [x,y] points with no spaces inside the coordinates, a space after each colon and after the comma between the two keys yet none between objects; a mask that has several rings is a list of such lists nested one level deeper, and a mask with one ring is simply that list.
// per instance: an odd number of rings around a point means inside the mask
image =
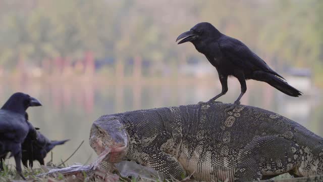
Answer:
[{"label": "folded black wing of the crow perched on the lizard", "polygon": [[241,41],[224,35],[218,40],[218,43],[222,55],[234,65],[246,70],[251,69],[252,71],[262,70],[265,72],[270,72],[283,78],[281,75],[272,70],[261,58],[254,54]]}]

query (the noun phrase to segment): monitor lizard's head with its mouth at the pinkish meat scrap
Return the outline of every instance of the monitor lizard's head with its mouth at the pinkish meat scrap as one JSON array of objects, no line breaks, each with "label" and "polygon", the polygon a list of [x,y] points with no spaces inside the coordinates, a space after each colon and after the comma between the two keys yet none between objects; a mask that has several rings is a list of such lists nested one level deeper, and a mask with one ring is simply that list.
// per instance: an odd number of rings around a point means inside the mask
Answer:
[{"label": "monitor lizard's head with its mouth at the pinkish meat scrap", "polygon": [[89,143],[97,155],[111,150],[107,155],[109,162],[122,160],[128,151],[128,135],[116,118],[100,117],[92,124]]}]

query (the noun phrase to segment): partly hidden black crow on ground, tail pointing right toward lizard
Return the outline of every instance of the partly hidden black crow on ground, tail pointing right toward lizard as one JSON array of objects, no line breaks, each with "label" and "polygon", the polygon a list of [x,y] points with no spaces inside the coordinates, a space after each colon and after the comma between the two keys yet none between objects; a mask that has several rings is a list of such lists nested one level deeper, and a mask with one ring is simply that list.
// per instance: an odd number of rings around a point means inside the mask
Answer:
[{"label": "partly hidden black crow on ground, tail pointing right toward lizard", "polygon": [[29,161],[30,168],[33,167],[33,161],[39,161],[40,165],[44,165],[46,154],[57,145],[63,145],[69,140],[50,141],[42,133],[37,131],[37,141],[25,140],[22,144],[22,163],[27,167]]}]

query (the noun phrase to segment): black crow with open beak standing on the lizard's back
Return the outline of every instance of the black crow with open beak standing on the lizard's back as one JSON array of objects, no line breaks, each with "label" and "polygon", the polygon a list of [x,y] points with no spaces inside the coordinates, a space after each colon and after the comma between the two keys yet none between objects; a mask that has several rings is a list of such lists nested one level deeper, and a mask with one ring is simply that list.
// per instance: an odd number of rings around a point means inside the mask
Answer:
[{"label": "black crow with open beak standing on the lizard's back", "polygon": [[[184,39],[182,39],[184,38]],[[234,102],[240,104],[240,99],[247,90],[247,79],[264,81],[281,92],[298,97],[301,92],[284,81],[283,77],[272,70],[261,58],[254,54],[241,41],[222,34],[210,23],[203,22],[196,24],[190,31],[180,34],[177,40],[182,39],[178,44],[192,42],[195,49],[204,54],[207,60],[216,67],[222,92],[209,100],[212,102],[225,95],[228,91],[228,76],[238,78],[241,85],[241,94]]]}]

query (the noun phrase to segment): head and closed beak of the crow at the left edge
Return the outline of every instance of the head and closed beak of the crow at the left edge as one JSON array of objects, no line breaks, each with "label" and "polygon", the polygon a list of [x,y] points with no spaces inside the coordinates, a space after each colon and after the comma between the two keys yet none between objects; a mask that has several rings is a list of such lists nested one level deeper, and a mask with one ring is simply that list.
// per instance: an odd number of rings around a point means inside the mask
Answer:
[{"label": "head and closed beak of the crow at the left edge", "polygon": [[24,115],[29,106],[41,106],[41,104],[37,99],[30,97],[28,94],[15,93],[1,109],[18,112]]}]

